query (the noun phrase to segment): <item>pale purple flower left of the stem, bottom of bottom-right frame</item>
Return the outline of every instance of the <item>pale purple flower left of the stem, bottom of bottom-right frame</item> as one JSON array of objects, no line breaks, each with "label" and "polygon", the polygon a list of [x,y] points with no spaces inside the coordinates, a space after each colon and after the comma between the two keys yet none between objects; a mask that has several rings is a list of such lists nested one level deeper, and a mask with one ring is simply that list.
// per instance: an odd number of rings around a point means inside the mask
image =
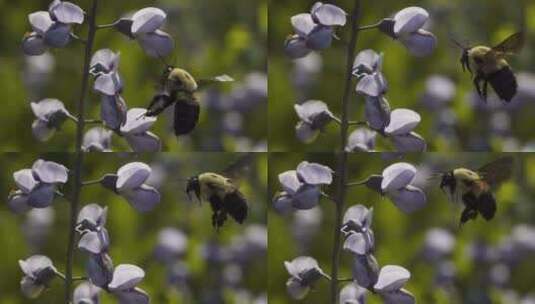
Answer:
[{"label": "pale purple flower left of the stem, bottom of bottom-right frame", "polygon": [[330,277],[321,270],[318,262],[309,256],[299,256],[292,261],[284,262],[290,278],[286,282],[286,289],[290,296],[296,300],[303,299],[315,282],[322,277]]}]

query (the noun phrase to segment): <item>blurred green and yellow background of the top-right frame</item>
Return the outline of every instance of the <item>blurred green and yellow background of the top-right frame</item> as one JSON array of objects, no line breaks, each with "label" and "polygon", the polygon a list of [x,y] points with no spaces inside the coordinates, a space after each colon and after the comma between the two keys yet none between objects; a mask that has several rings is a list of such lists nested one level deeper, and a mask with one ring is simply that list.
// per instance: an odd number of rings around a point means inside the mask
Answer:
[{"label": "blurred green and yellow background of the top-right frame", "polygon": [[[344,85],[345,52],[349,26],[337,31],[341,40],[330,48],[292,61],[283,53],[284,40],[293,33],[290,18],[307,13],[314,0],[272,0],[269,9],[269,144],[270,151],[333,151],[339,147],[338,126],[331,123],[314,143],[305,145],[295,136],[295,103],[322,100],[340,115]],[[430,14],[426,28],[438,39],[434,53],[416,58],[403,45],[377,30],[359,34],[357,50],[384,53],[383,73],[389,83],[386,98],[394,108],[418,112],[422,121],[414,130],[428,151],[532,150],[535,137],[535,3],[524,0],[399,0],[362,2],[361,25],[374,24],[408,6],[421,6]],[[354,1],[332,3],[351,12]],[[506,107],[494,97],[487,105],[478,100],[470,75],[459,64],[462,43],[495,45],[525,26],[527,43],[510,63],[519,92]],[[490,93],[490,92],[489,92]],[[494,93],[490,94],[492,96]],[[353,91],[350,117],[363,120],[364,99]],[[378,139],[379,151],[392,151]]]}]

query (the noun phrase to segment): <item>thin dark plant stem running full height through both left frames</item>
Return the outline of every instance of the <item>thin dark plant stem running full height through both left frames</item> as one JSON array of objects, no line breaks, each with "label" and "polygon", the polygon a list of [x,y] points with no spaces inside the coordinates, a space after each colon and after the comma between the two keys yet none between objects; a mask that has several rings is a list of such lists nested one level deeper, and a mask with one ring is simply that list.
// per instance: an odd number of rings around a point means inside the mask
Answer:
[{"label": "thin dark plant stem running full height through both left frames", "polygon": [[96,14],[98,8],[98,0],[93,0],[91,11],[88,16],[89,30],[87,33],[87,43],[85,44],[84,67],[82,70],[82,84],[80,89],[80,97],[78,99],[78,117],[76,122],[76,160],[74,164],[74,189],[73,199],[70,208],[70,227],[69,227],[69,243],[67,246],[67,266],[65,271],[65,304],[71,303],[72,300],[72,285],[73,285],[73,261],[74,248],[76,238],[76,218],[78,214],[78,207],[80,205],[80,191],[82,189],[82,163],[84,161],[84,152],[82,151],[82,142],[84,136],[85,125],[85,100],[89,86],[89,65],[91,60],[91,53],[93,50],[93,42],[95,40],[95,33],[97,29]]}]

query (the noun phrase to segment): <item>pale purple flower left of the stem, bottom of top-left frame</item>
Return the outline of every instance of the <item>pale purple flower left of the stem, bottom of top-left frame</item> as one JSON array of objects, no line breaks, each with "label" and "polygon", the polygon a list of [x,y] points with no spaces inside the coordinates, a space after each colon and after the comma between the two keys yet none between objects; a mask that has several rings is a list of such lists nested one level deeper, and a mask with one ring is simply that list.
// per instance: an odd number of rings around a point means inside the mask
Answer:
[{"label": "pale purple flower left of the stem, bottom of top-left frame", "polygon": [[32,123],[32,132],[40,141],[49,140],[62,125],[67,117],[71,116],[63,102],[46,98],[31,103],[36,120]]}]

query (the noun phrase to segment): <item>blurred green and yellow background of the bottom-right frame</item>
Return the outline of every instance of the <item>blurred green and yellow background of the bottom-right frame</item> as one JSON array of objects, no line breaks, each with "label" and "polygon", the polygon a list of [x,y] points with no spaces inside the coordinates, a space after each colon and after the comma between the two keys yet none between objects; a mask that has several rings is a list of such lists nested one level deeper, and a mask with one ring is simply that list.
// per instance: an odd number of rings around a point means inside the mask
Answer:
[{"label": "blurred green and yellow background of the bottom-right frame", "polygon": [[[495,218],[487,222],[479,217],[462,228],[462,206],[447,199],[439,180],[426,178],[430,173],[460,166],[476,169],[503,155],[427,153],[410,154],[403,159],[378,153],[349,156],[349,181],[381,174],[398,161],[418,168],[413,184],[426,192],[427,204],[415,213],[403,213],[388,198],[364,187],[350,188],[346,200],[346,209],[356,204],[373,207],[374,255],[380,266],[400,265],[411,272],[404,288],[414,294],[417,303],[533,303],[535,156],[512,154],[513,177],[495,191]],[[274,153],[269,158],[270,195],[281,190],[277,175],[294,170],[303,160],[331,168],[336,165],[331,153]],[[334,195],[334,183],[324,191]],[[283,263],[308,255],[329,274],[334,217],[335,206],[326,199],[313,209],[287,215],[269,209],[269,303],[329,301],[327,280],[318,281],[302,301],[292,301],[286,291],[289,275]],[[340,278],[351,277],[351,265],[351,254],[342,251]],[[340,288],[343,286],[341,283]],[[367,303],[382,303],[374,295],[368,300]]]}]

